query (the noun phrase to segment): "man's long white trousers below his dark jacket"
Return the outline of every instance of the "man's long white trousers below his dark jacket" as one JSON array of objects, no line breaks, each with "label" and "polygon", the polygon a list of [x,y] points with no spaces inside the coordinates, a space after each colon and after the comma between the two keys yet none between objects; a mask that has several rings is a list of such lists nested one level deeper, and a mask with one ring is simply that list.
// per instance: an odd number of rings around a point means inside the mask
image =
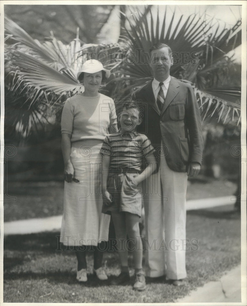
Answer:
[{"label": "man's long white trousers below his dark jacket", "polygon": [[159,171],[146,183],[146,275],[185,278],[187,173],[170,170],[165,157],[161,157]]}]

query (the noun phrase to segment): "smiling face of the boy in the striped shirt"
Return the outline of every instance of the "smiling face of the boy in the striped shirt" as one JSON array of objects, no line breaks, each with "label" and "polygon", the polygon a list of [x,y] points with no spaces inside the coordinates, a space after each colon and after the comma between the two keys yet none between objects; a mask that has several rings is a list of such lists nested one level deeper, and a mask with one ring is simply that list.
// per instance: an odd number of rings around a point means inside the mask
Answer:
[{"label": "smiling face of the boy in the striped shirt", "polygon": [[141,118],[139,118],[139,111],[134,108],[124,109],[120,114],[119,123],[121,130],[134,132],[137,125],[141,123]]}]

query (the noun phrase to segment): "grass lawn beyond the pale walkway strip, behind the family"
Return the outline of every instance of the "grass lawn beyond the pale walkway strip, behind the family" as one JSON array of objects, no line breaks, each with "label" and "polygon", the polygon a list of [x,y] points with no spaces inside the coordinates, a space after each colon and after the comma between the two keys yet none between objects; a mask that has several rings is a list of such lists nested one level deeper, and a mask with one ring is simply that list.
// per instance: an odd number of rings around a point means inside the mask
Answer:
[{"label": "grass lawn beyond the pale walkway strip, behind the family", "polygon": [[[4,222],[63,213],[63,182],[8,182],[7,189],[16,201],[4,202]],[[233,195],[236,189],[237,185],[231,181],[198,177],[188,182],[187,199]]]}]

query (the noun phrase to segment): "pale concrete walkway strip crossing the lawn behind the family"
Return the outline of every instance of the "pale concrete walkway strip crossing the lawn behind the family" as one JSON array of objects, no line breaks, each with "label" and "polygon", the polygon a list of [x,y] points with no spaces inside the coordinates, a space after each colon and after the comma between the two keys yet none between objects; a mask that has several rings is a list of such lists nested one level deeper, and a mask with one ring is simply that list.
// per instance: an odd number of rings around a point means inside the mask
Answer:
[{"label": "pale concrete walkway strip crossing the lawn behind the family", "polygon": [[[222,205],[234,205],[235,196],[223,196],[217,198],[207,198],[198,200],[189,200],[186,203],[186,209],[197,210]],[[47,218],[33,218],[4,222],[4,235],[30,234],[45,231],[59,231],[61,228],[62,216],[52,216]]]}]

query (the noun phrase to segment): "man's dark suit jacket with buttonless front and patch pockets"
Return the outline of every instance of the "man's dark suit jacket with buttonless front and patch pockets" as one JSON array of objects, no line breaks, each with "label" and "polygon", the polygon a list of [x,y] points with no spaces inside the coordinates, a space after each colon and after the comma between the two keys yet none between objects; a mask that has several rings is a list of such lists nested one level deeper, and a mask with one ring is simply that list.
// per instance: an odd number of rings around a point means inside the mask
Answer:
[{"label": "man's dark suit jacket with buttonless front and patch pockets", "polygon": [[133,99],[143,106],[138,132],[150,139],[157,160],[164,154],[167,165],[176,172],[186,172],[189,162],[201,164],[201,116],[190,84],[171,77],[161,113],[155,102],[152,80],[139,89]]}]

